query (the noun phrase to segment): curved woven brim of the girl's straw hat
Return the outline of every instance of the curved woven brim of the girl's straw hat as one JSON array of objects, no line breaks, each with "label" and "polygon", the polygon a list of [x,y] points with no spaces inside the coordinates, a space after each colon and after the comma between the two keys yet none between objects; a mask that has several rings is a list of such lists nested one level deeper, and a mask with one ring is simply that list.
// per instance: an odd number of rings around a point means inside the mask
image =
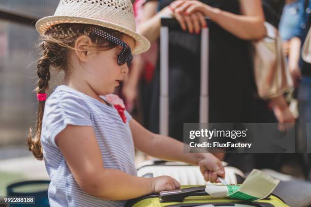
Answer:
[{"label": "curved woven brim of the girl's straw hat", "polygon": [[36,29],[41,35],[44,35],[45,31],[48,30],[50,27],[62,23],[93,24],[125,33],[128,36],[134,38],[136,42],[135,48],[132,49],[133,54],[140,54],[146,52],[150,48],[150,42],[141,34],[120,25],[112,24],[98,19],[71,16],[48,16],[37,21]]}]

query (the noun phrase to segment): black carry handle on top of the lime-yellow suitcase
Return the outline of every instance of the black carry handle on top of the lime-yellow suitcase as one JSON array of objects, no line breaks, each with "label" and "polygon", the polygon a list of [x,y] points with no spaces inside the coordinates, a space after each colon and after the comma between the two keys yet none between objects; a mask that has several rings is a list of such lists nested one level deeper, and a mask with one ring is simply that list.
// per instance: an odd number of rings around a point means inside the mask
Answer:
[{"label": "black carry handle on top of the lime-yellow suitcase", "polygon": [[159,194],[160,202],[182,202],[184,198],[189,196],[209,195],[205,192],[205,186],[183,188],[178,190],[162,191]]}]

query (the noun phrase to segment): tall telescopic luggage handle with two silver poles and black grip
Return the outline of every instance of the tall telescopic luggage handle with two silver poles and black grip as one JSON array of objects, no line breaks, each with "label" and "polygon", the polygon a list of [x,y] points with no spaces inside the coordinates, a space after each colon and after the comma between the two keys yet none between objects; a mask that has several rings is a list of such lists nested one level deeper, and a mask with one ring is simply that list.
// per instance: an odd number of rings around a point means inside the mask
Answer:
[{"label": "tall telescopic luggage handle with two silver poles and black grip", "polygon": [[[208,21],[208,18],[206,18]],[[160,133],[169,132],[169,28],[180,29],[175,18],[162,17],[160,29]],[[208,123],[208,28],[201,30],[200,123]]]}]

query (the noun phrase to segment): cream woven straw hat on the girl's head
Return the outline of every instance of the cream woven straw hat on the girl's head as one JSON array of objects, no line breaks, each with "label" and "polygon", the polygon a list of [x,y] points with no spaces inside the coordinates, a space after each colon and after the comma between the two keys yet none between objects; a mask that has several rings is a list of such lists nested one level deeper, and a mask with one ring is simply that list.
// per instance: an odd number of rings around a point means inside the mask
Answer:
[{"label": "cream woven straw hat on the girl's head", "polygon": [[60,0],[55,14],[39,19],[36,28],[43,35],[51,26],[61,23],[94,24],[128,34],[136,41],[133,54],[150,47],[150,42],[136,32],[130,0]]}]

